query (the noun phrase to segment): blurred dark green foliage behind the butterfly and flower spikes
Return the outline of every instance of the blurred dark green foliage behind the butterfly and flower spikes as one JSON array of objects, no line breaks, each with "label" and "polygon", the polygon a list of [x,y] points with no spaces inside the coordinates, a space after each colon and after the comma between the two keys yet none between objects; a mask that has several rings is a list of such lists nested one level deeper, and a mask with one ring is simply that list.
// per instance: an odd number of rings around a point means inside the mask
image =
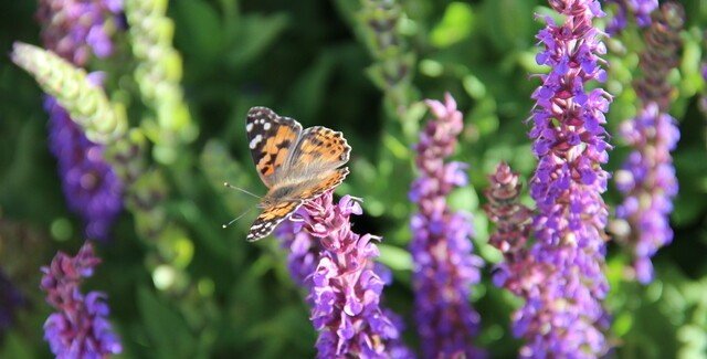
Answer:
[{"label": "blurred dark green foliage behind the butterfly and flower spikes", "polygon": [[[682,3],[688,14],[683,47],[669,72],[669,113],[682,133],[674,152],[680,187],[671,217],[675,237],[654,257],[656,278],[648,285],[626,274],[630,257],[609,244],[609,338],[621,358],[707,357],[707,123],[699,108],[707,1]],[[304,292],[289,278],[286,252],[273,237],[244,241],[255,211],[221,228],[256,205],[223,181],[265,193],[245,140],[251,106],[271,107],[305,127],[344,131],[352,147],[351,175],[337,193],[363,199],[357,232],[383,236],[380,262],[393,272],[386,304],[404,316],[405,340],[416,347],[407,251],[412,145],[429,118],[420,101],[441,99],[445,92],[465,115],[455,159],[469,165],[472,184],[455,191],[451,203],[474,213],[475,253],[486,262],[469,298],[482,316],[477,345],[492,357],[516,356],[520,342],[509,331],[509,315],[519,302],[490,283],[500,255],[487,244],[492,228],[482,193],[500,160],[524,183],[535,168],[525,120],[539,80],[530,74],[547,71],[535,62],[542,27],[535,14],[550,11],[535,0],[401,1],[391,12],[394,36],[383,50],[366,27],[367,11],[367,1],[352,0],[169,1],[166,14],[181,60],[166,60],[166,66],[181,67],[177,85],[187,106],[169,116],[187,124],[183,131],[176,125],[181,137],[175,146],[163,144],[159,114],[140,96],[140,59],[130,49],[125,18],[116,18],[113,54],[92,56],[84,66],[105,72],[108,97],[125,106],[131,126],[144,128],[154,176],[137,187],[147,204],[128,203],[97,241],[103,263],[85,288],[107,294],[123,357],[315,355],[316,334]],[[35,1],[0,2],[0,358],[51,356],[42,325],[53,309],[39,288],[39,268],[56,251],[75,254],[86,240],[50,151],[42,92],[8,56],[14,41],[42,45],[36,12]],[[630,24],[606,40],[612,134],[636,113],[631,83],[645,46],[641,33]],[[612,144],[610,171],[627,152]],[[611,208],[620,202],[613,184],[604,199]],[[532,207],[527,194],[524,202]]]}]

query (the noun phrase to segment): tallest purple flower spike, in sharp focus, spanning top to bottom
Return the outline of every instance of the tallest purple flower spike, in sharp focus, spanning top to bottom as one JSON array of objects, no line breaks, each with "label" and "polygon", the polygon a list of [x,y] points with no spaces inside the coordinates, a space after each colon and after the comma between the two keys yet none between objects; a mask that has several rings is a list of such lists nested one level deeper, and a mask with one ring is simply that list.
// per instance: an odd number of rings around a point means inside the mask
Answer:
[{"label": "tallest purple flower spike, in sharp focus, spanning top to bottom", "polygon": [[536,201],[536,243],[531,255],[551,267],[542,291],[529,293],[515,318],[516,335],[526,339],[524,357],[593,358],[608,349],[602,331],[608,320],[602,300],[609,285],[604,268],[608,210],[601,193],[609,175],[604,113],[611,96],[602,88],[602,33],[592,21],[603,17],[597,0],[550,0],[564,15],[547,18],[538,33],[540,65],[550,67],[532,94],[530,137],[538,167],[530,183]]}]

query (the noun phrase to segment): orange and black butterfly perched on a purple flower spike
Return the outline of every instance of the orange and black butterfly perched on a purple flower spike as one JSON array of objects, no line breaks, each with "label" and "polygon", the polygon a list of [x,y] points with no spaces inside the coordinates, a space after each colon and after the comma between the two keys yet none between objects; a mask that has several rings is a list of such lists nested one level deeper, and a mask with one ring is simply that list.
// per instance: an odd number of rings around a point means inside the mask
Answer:
[{"label": "orange and black butterfly perched on a purple flower spike", "polygon": [[253,107],[245,120],[249,148],[257,175],[267,187],[261,214],[246,236],[268,235],[307,200],[339,186],[349,173],[351,147],[339,131],[321,126],[302,129],[294,118],[267,107]]}]

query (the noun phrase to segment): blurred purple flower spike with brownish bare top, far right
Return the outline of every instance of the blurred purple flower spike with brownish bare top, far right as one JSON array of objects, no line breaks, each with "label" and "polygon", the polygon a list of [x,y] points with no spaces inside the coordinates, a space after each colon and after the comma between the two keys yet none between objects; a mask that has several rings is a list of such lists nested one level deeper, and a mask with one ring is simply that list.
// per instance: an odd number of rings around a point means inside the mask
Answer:
[{"label": "blurred purple flower spike with brownish bare top, far right", "polygon": [[680,134],[676,120],[667,114],[674,92],[667,75],[679,62],[684,18],[683,7],[676,2],[666,2],[654,12],[644,34],[646,49],[640,63],[643,76],[634,82],[643,108],[620,129],[633,151],[615,177],[624,194],[616,218],[627,224],[616,226],[626,230],[615,234],[633,254],[635,277],[644,284],[653,279],[651,257],[673,240],[669,214],[678,184],[671,151]]}]

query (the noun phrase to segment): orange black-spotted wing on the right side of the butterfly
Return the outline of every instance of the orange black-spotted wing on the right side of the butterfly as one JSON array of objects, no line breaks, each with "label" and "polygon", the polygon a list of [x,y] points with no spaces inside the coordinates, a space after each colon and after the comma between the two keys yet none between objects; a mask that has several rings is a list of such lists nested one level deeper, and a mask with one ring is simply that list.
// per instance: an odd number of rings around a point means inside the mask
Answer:
[{"label": "orange black-spotted wing on the right side of the butterfly", "polygon": [[315,126],[307,128],[302,134],[302,139],[295,150],[298,151],[294,163],[297,167],[314,161],[345,163],[349,160],[351,147],[346,142],[341,133]]}]

